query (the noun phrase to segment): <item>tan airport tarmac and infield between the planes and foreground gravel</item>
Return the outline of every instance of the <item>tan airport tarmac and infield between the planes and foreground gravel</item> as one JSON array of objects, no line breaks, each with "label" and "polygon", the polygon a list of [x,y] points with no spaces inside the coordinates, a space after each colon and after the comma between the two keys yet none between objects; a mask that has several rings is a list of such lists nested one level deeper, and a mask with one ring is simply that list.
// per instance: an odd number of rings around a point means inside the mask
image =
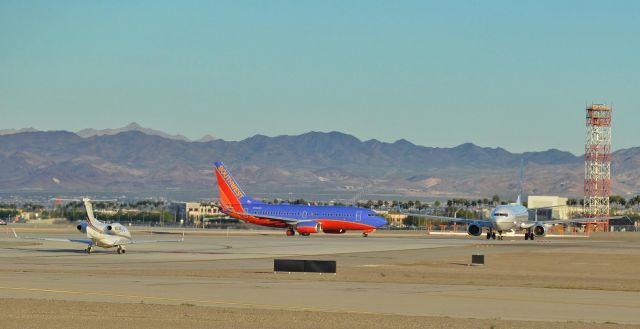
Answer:
[{"label": "tan airport tarmac and infield between the planes and foreground gravel", "polygon": [[[78,237],[72,229],[42,231],[23,235]],[[182,243],[131,245],[125,255],[100,248],[87,255],[82,245],[5,234],[0,294],[4,303],[195,305],[232,310],[228,314],[380,317],[420,327],[431,320],[440,324],[434,327],[466,326],[459,321],[497,328],[640,325],[640,234],[532,242],[380,233],[188,232]],[[468,266],[472,254],[484,254],[486,265]],[[336,260],[338,273],[276,274],[274,258]]]}]

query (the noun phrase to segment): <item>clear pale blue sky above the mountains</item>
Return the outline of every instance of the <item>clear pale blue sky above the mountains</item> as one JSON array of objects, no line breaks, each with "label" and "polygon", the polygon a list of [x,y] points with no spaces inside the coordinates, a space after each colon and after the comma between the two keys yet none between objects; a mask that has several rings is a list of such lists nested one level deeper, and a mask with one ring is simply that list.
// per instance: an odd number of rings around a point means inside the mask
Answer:
[{"label": "clear pale blue sky above the mountains", "polygon": [[2,1],[0,129],[639,146],[639,1]]}]

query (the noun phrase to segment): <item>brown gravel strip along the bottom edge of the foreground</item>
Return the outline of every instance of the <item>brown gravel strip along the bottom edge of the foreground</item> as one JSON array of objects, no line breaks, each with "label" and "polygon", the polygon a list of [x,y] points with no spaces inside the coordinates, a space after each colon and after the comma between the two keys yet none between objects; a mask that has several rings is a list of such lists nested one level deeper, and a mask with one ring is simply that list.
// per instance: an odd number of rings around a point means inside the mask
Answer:
[{"label": "brown gravel strip along the bottom edge of the foreground", "polygon": [[638,328],[615,323],[532,322],[350,313],[291,312],[192,305],[0,299],[0,328]]}]

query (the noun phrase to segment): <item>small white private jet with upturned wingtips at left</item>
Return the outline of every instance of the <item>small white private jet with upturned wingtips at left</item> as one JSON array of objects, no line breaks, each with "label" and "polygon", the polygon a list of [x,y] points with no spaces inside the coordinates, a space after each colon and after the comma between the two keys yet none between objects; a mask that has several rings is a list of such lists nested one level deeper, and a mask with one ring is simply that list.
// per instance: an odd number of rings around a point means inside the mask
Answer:
[{"label": "small white private jet with upturned wingtips at left", "polygon": [[119,223],[106,224],[97,220],[93,215],[93,206],[91,200],[82,199],[84,207],[87,210],[87,220],[84,220],[76,226],[78,231],[85,233],[88,239],[59,239],[59,238],[36,238],[36,237],[19,237],[15,230],[13,234],[16,238],[21,239],[33,239],[44,241],[61,241],[61,242],[75,242],[87,245],[87,253],[91,253],[94,246],[101,248],[117,248],[118,254],[124,254],[126,252],[125,245],[137,244],[137,243],[158,243],[158,242],[182,242],[183,237],[179,240],[134,240],[131,237],[131,232]]}]

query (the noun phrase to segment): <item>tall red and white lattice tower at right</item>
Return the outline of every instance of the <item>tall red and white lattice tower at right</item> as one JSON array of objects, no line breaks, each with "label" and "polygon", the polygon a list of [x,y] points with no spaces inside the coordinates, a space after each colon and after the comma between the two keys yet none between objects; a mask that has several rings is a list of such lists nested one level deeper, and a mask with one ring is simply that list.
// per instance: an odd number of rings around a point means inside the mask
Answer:
[{"label": "tall red and white lattice tower at right", "polygon": [[603,104],[587,107],[584,153],[584,214],[594,219],[609,216],[611,195],[611,112]]}]

